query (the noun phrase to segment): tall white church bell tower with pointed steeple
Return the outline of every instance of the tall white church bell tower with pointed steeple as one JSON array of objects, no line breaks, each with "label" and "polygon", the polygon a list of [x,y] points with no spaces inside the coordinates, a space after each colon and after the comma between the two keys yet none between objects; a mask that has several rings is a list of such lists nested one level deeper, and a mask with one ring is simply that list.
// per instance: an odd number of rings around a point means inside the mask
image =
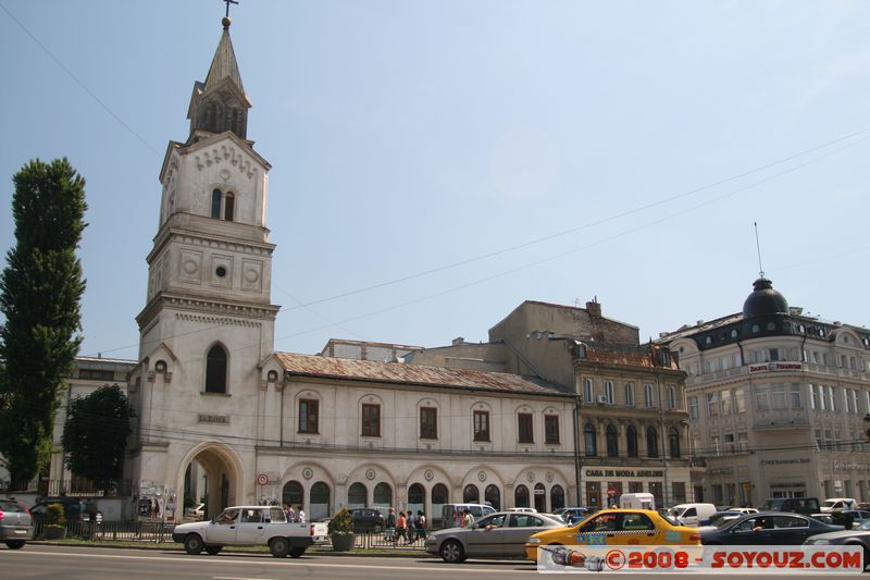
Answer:
[{"label": "tall white church bell tower with pointed steeple", "polygon": [[139,422],[132,476],[140,488],[170,490],[199,454],[215,478],[215,507],[245,488],[250,459],[231,444],[258,432],[260,363],[273,350],[278,311],[266,229],[271,165],[248,139],[251,103],[229,24],[227,16],[206,81],[194,84],[189,135],[170,141],[160,170],[130,385]]}]

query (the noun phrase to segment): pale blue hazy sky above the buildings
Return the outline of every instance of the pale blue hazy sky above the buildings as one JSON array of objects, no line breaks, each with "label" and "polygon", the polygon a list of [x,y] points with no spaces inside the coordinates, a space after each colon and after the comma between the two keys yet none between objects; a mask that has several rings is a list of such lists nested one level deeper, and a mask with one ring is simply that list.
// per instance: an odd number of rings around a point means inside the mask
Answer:
[{"label": "pale blue hazy sky above the buildings", "polygon": [[[0,0],[0,250],[12,176],[67,157],[87,181],[82,355],[137,357],[163,155],[224,10]],[[240,0],[231,16],[248,138],[272,164],[276,350],[486,341],[523,300],[597,299],[646,341],[738,312],[759,270],[809,316],[870,324],[870,2]]]}]

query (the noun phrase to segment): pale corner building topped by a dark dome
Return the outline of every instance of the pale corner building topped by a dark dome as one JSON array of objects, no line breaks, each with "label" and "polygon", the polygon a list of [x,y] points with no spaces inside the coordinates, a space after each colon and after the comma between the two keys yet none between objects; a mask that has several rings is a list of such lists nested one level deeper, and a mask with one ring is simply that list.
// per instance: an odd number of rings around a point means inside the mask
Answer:
[{"label": "pale corner building topped by a dark dome", "polygon": [[696,501],[870,501],[870,331],[806,316],[759,277],[742,312],[663,333],[686,374]]}]

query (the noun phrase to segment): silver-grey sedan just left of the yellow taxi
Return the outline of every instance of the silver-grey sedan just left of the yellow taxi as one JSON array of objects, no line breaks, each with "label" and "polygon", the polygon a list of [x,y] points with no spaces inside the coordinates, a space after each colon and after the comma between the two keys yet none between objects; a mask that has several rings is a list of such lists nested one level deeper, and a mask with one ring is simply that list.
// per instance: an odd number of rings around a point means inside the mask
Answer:
[{"label": "silver-grey sedan just left of the yellow taxi", "polygon": [[450,564],[465,558],[522,557],[529,536],[551,528],[564,528],[564,523],[543,514],[499,511],[480,518],[470,528],[430,533],[425,550]]}]

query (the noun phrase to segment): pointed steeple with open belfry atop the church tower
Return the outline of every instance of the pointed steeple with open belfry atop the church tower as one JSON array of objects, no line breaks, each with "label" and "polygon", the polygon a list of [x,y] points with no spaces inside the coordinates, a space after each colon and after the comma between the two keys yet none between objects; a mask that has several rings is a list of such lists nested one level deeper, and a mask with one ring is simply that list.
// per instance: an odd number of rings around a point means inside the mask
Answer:
[{"label": "pointed steeple with open belfry atop the church tower", "polygon": [[248,109],[251,103],[241,85],[233,40],[229,38],[229,17],[223,18],[223,33],[204,83],[194,84],[190,108],[188,145],[203,137],[231,131],[243,139],[248,133]]}]

